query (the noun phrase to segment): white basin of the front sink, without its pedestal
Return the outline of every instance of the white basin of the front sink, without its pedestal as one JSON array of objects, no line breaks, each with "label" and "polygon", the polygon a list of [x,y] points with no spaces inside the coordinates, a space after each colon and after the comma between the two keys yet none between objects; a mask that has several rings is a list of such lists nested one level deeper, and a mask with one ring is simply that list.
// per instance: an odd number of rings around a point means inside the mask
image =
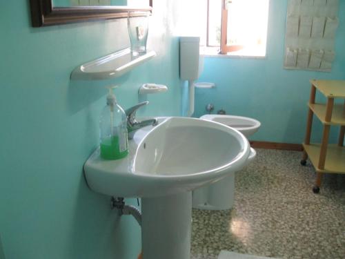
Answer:
[{"label": "white basin of the front sink, without its pedestal", "polygon": [[186,117],[140,129],[129,148],[121,160],[103,160],[99,150],[89,158],[85,173],[93,191],[126,198],[191,191],[241,169],[250,153],[233,128]]}]

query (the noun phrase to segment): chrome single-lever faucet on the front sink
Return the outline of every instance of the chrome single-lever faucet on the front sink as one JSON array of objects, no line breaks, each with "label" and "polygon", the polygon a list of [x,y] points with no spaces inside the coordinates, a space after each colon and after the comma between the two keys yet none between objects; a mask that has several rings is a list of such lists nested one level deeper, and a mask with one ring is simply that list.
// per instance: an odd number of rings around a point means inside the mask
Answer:
[{"label": "chrome single-lever faucet on the front sink", "polygon": [[132,106],[130,108],[128,108],[125,113],[127,116],[127,130],[128,130],[128,139],[132,139],[133,135],[135,133],[135,131],[137,131],[139,128],[143,128],[145,126],[156,126],[158,124],[158,120],[157,119],[146,119],[143,120],[141,122],[138,122],[135,119],[135,113],[137,113],[137,110],[144,105],[147,105],[148,102],[141,102],[135,106]]}]

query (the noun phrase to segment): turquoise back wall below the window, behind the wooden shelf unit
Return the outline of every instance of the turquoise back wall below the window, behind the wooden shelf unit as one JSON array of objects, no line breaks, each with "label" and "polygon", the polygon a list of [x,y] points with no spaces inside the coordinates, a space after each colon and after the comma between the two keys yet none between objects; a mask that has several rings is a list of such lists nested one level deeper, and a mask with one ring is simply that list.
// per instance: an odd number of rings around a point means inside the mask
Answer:
[{"label": "turquoise back wall below the window, behind the wooden shelf unit", "polygon": [[[345,1],[339,1],[340,25],[331,73],[282,68],[287,3],[287,0],[270,1],[265,59],[205,58],[199,81],[214,82],[217,88],[195,90],[195,117],[207,113],[206,104],[213,103],[215,111],[224,108],[228,114],[262,122],[253,140],[289,143],[304,140],[309,79],[345,79]],[[317,119],[315,126],[313,136],[319,142],[321,127]],[[333,136],[337,131],[335,128]]]}]

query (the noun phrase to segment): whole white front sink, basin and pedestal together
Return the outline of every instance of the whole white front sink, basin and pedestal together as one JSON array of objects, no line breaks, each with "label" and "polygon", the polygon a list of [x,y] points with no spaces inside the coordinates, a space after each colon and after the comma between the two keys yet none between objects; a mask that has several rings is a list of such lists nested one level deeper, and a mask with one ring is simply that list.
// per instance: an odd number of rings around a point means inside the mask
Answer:
[{"label": "whole white front sink, basin and pedestal together", "polygon": [[102,160],[97,150],[84,169],[93,191],[141,198],[144,259],[189,259],[191,191],[241,170],[249,156],[233,128],[166,117],[137,131],[124,159]]}]

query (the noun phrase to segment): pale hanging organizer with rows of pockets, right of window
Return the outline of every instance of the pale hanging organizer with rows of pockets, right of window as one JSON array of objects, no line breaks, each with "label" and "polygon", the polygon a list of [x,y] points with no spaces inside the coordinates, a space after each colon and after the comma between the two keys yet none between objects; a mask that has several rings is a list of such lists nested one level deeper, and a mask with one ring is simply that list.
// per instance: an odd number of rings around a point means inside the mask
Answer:
[{"label": "pale hanging organizer with rows of pockets, right of window", "polygon": [[289,0],[284,68],[330,72],[339,0]]}]

